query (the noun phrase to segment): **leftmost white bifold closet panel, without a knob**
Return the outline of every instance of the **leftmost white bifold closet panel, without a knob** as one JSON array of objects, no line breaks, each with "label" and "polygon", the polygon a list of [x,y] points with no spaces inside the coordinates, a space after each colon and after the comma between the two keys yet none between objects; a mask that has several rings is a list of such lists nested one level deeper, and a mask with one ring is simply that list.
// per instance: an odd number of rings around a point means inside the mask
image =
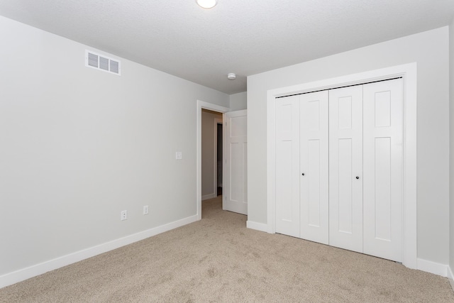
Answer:
[{"label": "leftmost white bifold closet panel, without a knob", "polygon": [[299,96],[276,99],[276,232],[299,237]]}]

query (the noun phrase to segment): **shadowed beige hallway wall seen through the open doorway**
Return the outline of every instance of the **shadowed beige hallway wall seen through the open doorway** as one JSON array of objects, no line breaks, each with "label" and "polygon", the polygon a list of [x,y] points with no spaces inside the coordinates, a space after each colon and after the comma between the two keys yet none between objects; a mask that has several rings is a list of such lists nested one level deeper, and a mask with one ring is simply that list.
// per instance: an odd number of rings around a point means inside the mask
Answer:
[{"label": "shadowed beige hallway wall seen through the open doorway", "polygon": [[214,184],[214,119],[221,119],[222,114],[202,109],[201,111],[201,199],[216,197],[217,187]]}]

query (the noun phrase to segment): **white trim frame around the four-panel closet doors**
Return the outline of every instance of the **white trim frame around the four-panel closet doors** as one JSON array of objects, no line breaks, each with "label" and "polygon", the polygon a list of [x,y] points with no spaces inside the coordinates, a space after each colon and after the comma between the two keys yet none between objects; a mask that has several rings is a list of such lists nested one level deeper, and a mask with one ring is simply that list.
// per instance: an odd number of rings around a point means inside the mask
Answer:
[{"label": "white trim frame around the four-panel closet doors", "polygon": [[403,255],[402,264],[417,268],[416,218],[416,62],[345,75],[315,82],[267,91],[267,232],[276,232],[275,200],[275,99],[304,92],[316,92],[365,82],[402,77],[404,82],[404,197],[402,209]]}]

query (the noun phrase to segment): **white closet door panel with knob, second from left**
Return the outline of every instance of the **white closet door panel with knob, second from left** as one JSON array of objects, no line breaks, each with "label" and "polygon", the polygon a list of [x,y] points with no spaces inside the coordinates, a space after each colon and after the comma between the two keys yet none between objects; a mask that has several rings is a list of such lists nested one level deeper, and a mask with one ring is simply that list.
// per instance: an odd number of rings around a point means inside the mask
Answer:
[{"label": "white closet door panel with knob, second from left", "polygon": [[328,244],[328,91],[299,100],[300,237]]}]

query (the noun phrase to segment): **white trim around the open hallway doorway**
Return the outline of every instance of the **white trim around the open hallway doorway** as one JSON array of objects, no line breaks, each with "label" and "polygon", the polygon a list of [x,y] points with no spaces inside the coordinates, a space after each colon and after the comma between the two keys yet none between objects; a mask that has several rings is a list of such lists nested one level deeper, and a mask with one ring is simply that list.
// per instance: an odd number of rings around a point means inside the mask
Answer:
[{"label": "white trim around the open hallway doorway", "polygon": [[230,109],[228,107],[219,106],[205,101],[197,100],[197,140],[196,140],[196,206],[197,206],[197,220],[201,219],[201,109],[209,109],[210,111],[218,111],[219,113],[226,113]]}]

